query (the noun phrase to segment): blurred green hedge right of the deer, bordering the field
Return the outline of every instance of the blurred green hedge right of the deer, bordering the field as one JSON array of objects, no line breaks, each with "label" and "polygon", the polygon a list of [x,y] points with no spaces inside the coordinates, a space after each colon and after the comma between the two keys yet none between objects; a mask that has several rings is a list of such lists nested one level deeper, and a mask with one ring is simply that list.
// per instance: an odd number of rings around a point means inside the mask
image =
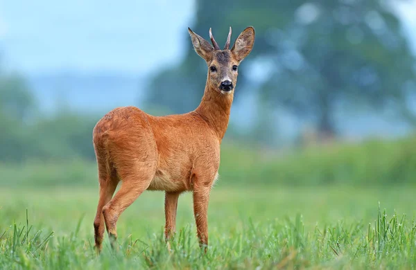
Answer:
[{"label": "blurred green hedge right of the deer, bordering the field", "polygon": [[384,185],[414,183],[415,138],[368,141],[358,145],[311,147],[267,154],[223,147],[220,177],[226,183]]}]

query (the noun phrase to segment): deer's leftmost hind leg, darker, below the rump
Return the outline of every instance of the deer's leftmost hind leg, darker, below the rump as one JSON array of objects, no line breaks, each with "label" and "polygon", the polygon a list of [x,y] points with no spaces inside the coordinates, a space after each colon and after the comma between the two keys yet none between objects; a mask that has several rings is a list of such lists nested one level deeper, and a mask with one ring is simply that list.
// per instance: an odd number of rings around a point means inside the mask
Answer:
[{"label": "deer's leftmost hind leg, darker, below the rump", "polygon": [[94,240],[95,249],[99,253],[102,249],[103,235],[105,231],[103,207],[107,204],[114,191],[116,190],[119,179],[116,177],[115,172],[109,172],[106,161],[101,160],[98,156],[98,182],[100,184],[100,195],[98,199],[98,206],[96,217],[94,219]]}]

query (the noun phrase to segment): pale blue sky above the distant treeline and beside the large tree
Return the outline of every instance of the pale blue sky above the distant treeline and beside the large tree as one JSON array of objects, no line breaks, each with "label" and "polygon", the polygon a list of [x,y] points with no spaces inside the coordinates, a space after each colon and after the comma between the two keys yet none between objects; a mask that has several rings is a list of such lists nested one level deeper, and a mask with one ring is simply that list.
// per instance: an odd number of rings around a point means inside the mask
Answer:
[{"label": "pale blue sky above the distant treeline and beside the large tree", "polygon": [[[0,0],[0,50],[28,74],[58,70],[146,75],[180,61],[193,0]],[[392,1],[416,54],[416,0]]]}]

